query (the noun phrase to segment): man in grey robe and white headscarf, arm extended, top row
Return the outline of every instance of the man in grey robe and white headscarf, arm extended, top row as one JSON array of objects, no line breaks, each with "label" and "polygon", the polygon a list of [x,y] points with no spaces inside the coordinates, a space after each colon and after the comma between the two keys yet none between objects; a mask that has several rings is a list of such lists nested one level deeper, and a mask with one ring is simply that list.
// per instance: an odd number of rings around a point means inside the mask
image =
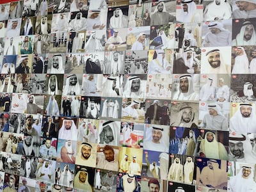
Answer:
[{"label": "man in grey robe and white headscarf, arm extended, top row", "polygon": [[163,1],[160,1],[154,12],[151,15],[150,25],[151,26],[159,26],[159,25],[167,25],[169,22],[175,22],[175,16],[171,15],[166,11],[166,7]]}]

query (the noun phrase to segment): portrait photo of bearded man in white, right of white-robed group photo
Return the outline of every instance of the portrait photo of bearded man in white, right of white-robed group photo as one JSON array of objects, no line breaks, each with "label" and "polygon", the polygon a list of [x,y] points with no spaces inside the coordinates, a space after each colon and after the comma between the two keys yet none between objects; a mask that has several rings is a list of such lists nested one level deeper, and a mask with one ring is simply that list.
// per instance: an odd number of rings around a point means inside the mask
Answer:
[{"label": "portrait photo of bearded man in white, right of white-robed group photo", "polygon": [[173,74],[173,100],[199,100],[200,74]]}]

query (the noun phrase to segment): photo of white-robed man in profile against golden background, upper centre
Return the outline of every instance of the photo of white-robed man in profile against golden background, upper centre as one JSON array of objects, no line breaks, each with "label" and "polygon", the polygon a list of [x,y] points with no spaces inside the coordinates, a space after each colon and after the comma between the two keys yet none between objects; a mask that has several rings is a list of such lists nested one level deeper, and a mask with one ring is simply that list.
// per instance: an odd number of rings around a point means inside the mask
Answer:
[{"label": "photo of white-robed man in profile against golden background, upper centre", "polygon": [[128,28],[126,36],[127,50],[143,51],[149,49],[150,26]]}]

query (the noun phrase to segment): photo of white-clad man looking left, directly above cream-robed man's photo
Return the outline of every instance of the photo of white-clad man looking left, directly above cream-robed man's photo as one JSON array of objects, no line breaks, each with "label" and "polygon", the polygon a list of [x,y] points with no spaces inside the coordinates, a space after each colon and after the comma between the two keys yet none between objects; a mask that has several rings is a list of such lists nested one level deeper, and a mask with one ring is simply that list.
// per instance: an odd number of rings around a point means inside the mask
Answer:
[{"label": "photo of white-clad man looking left, directly above cream-robed man's photo", "polygon": [[198,121],[201,129],[228,131],[229,102],[200,102]]}]

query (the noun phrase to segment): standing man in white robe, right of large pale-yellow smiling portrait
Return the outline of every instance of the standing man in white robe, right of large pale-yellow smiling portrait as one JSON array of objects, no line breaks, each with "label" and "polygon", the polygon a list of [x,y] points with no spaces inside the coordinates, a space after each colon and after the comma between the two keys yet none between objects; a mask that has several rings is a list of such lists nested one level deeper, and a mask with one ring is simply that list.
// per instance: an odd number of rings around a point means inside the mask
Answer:
[{"label": "standing man in white robe, right of large pale-yellow smiling portrait", "polygon": [[236,58],[232,74],[250,74],[249,60],[244,47],[237,47],[236,49]]}]

